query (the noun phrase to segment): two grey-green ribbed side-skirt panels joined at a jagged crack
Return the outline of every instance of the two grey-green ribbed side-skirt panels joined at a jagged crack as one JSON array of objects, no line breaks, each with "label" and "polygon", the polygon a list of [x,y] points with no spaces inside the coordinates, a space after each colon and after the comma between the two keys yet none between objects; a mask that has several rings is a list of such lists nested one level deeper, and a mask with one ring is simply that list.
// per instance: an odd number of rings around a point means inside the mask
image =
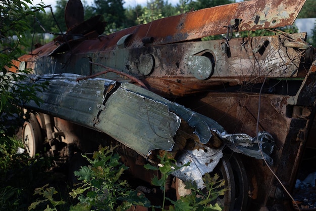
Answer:
[{"label": "two grey-green ribbed side-skirt panels joined at a jagged crack", "polygon": [[108,88],[111,92],[116,81],[93,78],[76,82],[80,76],[34,77],[35,83],[49,81],[44,92],[37,93],[44,102],[23,106],[104,132],[143,156],[153,149],[172,150],[181,119],[167,105],[122,88],[108,96]]}]

